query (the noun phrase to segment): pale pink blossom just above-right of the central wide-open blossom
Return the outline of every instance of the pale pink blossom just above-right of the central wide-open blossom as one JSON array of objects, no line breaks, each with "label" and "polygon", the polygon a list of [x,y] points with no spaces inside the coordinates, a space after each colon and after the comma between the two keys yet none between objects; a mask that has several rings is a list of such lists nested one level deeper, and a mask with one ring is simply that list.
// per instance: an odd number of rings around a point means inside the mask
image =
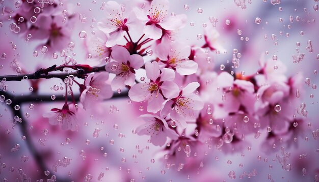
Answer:
[{"label": "pale pink blossom just above-right of the central wide-open blossom", "polygon": [[197,63],[188,58],[191,53],[188,45],[173,43],[168,46],[162,43],[156,46],[155,52],[165,68],[176,70],[180,75],[191,75],[197,71]]}]

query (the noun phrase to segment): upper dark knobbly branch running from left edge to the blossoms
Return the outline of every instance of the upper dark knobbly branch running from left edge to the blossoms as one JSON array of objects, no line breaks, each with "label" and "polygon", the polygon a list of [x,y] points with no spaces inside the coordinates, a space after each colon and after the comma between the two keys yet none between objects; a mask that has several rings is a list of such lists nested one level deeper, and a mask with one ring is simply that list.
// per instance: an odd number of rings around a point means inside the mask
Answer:
[{"label": "upper dark knobbly branch running from left edge to the blossoms", "polygon": [[[52,71],[63,71],[64,68],[71,68],[73,70],[76,70],[74,72],[65,72],[65,73],[49,73]],[[0,76],[0,80],[5,80],[6,81],[21,81],[23,79],[29,79],[29,80],[35,80],[39,78],[45,78],[45,79],[50,79],[50,78],[61,78],[64,79],[69,75],[73,75],[74,77],[78,78],[84,78],[86,74],[88,73],[93,73],[93,72],[100,72],[100,71],[105,71],[105,65],[100,66],[100,67],[90,67],[88,65],[74,65],[74,66],[59,66],[57,65],[51,66],[46,69],[39,69],[34,73],[30,74],[19,74],[19,75],[3,75]]]}]

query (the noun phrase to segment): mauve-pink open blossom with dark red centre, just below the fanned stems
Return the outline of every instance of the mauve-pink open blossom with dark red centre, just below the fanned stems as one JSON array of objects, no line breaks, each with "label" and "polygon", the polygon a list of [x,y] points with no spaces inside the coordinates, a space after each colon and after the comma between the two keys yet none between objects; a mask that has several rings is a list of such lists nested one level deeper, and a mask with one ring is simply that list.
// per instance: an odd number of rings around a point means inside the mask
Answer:
[{"label": "mauve-pink open blossom with dark red centre, just below the fanned stems", "polygon": [[131,86],[135,82],[134,69],[137,70],[143,66],[143,57],[138,54],[130,55],[127,49],[122,46],[115,46],[112,49],[111,55],[115,62],[105,66],[105,70],[116,74],[111,83],[112,89],[122,89],[125,85]]}]

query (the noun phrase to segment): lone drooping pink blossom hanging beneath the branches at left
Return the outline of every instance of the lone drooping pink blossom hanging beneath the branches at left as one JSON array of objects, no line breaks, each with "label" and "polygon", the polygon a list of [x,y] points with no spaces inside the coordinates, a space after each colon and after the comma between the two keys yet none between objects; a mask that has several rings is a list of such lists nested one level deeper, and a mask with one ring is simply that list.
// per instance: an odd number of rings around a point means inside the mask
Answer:
[{"label": "lone drooping pink blossom hanging beneath the branches at left", "polygon": [[43,114],[43,117],[49,119],[49,124],[59,125],[61,124],[63,130],[77,130],[76,115],[69,110],[69,105],[64,104],[62,109],[51,109],[53,112],[47,112]]}]

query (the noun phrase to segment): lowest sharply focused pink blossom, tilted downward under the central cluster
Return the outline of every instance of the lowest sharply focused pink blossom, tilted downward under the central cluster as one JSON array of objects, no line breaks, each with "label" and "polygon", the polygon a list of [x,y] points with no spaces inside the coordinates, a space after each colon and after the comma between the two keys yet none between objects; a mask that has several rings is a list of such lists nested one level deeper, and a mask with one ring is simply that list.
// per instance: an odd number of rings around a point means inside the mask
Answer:
[{"label": "lowest sharply focused pink blossom, tilted downward under the central cluster", "polygon": [[138,135],[150,135],[151,142],[156,146],[162,146],[166,142],[166,137],[177,139],[178,134],[168,127],[166,120],[153,114],[143,114],[141,117],[147,122],[137,128]]}]

